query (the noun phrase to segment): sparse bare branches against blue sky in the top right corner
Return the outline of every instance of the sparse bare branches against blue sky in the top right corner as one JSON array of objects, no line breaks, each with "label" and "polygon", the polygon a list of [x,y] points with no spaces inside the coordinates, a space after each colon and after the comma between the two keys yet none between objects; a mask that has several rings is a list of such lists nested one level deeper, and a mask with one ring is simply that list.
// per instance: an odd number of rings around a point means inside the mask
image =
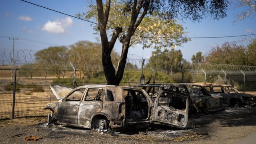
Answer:
[{"label": "sparse bare branches against blue sky in the top right corner", "polygon": [[256,16],[256,0],[232,0],[232,4],[234,8],[244,8],[240,14],[236,14],[236,20],[234,22]]}]

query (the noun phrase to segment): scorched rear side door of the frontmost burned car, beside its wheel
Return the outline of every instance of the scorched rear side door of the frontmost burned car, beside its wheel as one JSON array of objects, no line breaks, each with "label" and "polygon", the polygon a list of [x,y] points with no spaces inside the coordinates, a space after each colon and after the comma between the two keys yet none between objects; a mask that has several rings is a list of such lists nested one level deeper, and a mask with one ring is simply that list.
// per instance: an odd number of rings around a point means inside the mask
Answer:
[{"label": "scorched rear side door of the frontmost burned car, beside its wheel", "polygon": [[78,109],[78,126],[91,128],[92,118],[100,114],[103,100],[102,88],[88,88]]}]

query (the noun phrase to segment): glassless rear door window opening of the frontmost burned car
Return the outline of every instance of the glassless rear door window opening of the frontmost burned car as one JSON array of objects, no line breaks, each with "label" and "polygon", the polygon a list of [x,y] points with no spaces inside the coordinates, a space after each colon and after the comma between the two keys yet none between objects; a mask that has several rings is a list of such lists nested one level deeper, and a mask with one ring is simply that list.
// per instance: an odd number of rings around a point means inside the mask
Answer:
[{"label": "glassless rear door window opening of the frontmost burned car", "polygon": [[89,88],[85,101],[102,101],[102,89]]}]

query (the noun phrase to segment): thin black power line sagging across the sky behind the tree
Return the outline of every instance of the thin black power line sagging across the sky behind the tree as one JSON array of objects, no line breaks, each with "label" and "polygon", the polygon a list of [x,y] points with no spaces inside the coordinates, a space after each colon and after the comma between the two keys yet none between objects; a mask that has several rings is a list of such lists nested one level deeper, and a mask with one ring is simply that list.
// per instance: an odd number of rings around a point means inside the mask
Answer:
[{"label": "thin black power line sagging across the sky behind the tree", "polygon": [[[72,18],[77,18],[77,19],[80,19],[80,20],[84,20],[84,19],[82,19],[82,18],[78,18],[78,17],[76,17],[76,16],[72,16],[72,15],[70,15],[70,14],[66,14],[66,13],[64,13],[64,12],[60,12],[60,11],[57,11],[57,10],[53,10],[53,9],[50,9],[50,8],[46,8],[46,7],[44,7],[44,6],[40,6],[40,5],[38,5],[38,4],[34,4],[34,3],[32,3],[32,2],[28,2],[28,1],[26,1],[26,0],[21,0],[21,1],[27,2],[27,3],[33,4],[33,5],[35,5],[35,6],[39,6],[39,7],[41,7],[41,8],[45,8],[45,9],[48,9],[48,10],[51,10],[51,11],[54,11],[54,12],[58,12],[58,13],[60,13],[60,14],[66,15],[66,16],[71,16]],[[89,20],[84,20],[84,21],[90,22],[90,23],[92,23],[92,24],[97,24],[97,25],[99,25],[98,23],[96,23],[96,22],[91,22],[91,21],[89,21]],[[115,28],[111,28],[111,27],[108,27],[108,26],[107,26],[107,28],[110,28],[110,29],[115,30]],[[123,32],[124,32],[124,31],[123,31]],[[127,33],[127,32],[125,32],[125,33]],[[175,39],[185,39],[185,38],[190,38],[190,39],[196,39],[196,38],[231,38],[231,37],[253,36],[253,35],[256,35],[256,34],[245,34],[245,35],[238,35],[238,36],[211,36],[211,37],[147,37],[147,36],[140,36],[140,35],[134,34],[134,36],[138,36],[138,37],[141,37],[141,38],[165,38],[165,39],[172,39],[172,38],[175,38]]]}]

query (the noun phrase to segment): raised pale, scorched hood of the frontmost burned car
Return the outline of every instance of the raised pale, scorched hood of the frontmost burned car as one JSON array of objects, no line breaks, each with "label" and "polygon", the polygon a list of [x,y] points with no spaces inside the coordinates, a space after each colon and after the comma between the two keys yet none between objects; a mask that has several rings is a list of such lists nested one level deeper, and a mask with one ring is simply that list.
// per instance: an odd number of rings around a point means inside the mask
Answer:
[{"label": "raised pale, scorched hood of the frontmost burned car", "polygon": [[71,92],[71,90],[74,89],[70,86],[65,86],[62,84],[51,84],[50,88],[58,100],[64,98],[69,92]]}]

